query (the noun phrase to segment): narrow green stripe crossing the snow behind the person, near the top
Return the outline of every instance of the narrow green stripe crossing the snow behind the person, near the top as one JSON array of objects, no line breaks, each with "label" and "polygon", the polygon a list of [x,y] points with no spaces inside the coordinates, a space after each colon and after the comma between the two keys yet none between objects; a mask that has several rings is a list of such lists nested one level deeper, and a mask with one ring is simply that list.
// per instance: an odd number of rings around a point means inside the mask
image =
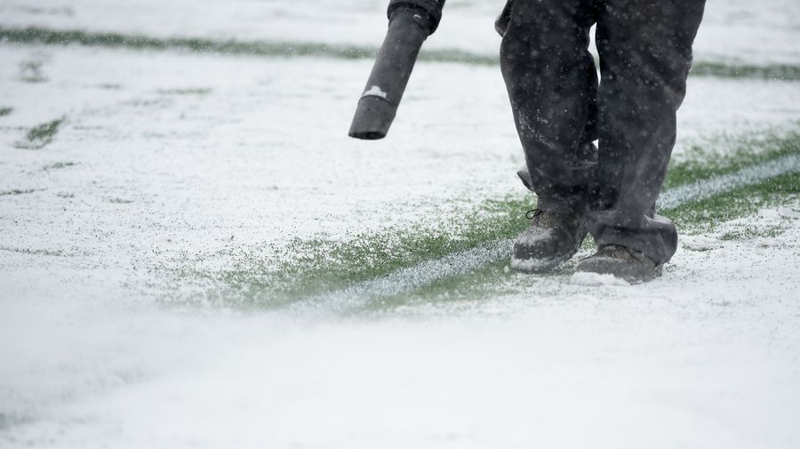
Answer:
[{"label": "narrow green stripe crossing the snow behind the person, near the top", "polygon": [[[315,42],[214,40],[200,37],[153,37],[122,33],[89,32],[52,28],[0,28],[0,41],[12,44],[79,44],[132,50],[177,50],[197,53],[267,57],[325,57],[344,60],[372,59],[377,47]],[[497,66],[497,56],[487,56],[456,49],[423,48],[419,60],[452,62],[468,65]],[[758,78],[767,80],[800,80],[800,67],[770,64],[741,65],[724,62],[695,61],[692,76],[724,78]]]}]

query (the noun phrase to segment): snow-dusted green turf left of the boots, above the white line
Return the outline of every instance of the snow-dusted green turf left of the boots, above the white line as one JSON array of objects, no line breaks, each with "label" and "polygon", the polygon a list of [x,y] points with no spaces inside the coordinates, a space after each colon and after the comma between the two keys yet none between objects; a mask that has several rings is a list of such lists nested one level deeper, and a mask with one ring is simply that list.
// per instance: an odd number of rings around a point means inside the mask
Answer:
[{"label": "snow-dusted green turf left of the boots, above the white line", "polygon": [[185,279],[205,279],[225,285],[212,302],[279,307],[303,298],[346,288],[398,269],[457,253],[487,241],[516,235],[526,226],[524,211],[532,197],[488,200],[480,218],[452,229],[385,229],[357,235],[347,242],[324,238],[293,240],[289,245],[252,247],[237,253],[232,269],[208,273],[184,270]]}]

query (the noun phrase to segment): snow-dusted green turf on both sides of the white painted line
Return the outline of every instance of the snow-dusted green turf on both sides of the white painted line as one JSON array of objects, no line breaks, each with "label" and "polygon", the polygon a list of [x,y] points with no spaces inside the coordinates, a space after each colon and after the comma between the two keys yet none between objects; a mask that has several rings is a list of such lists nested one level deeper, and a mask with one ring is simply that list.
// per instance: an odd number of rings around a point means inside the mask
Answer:
[{"label": "snow-dusted green turf on both sides of the white painted line", "polygon": [[[776,157],[800,154],[798,142],[800,134],[797,132],[782,136],[767,133],[741,140],[741,148],[729,156],[707,157],[710,152],[697,150],[689,159],[670,167],[667,184],[675,188]],[[676,222],[681,233],[705,232],[713,230],[716,223],[751,215],[759,208],[798,194],[800,173],[791,173],[661,212]],[[236,254],[216,254],[212,259],[233,257],[235,266],[217,271],[187,268],[180,270],[179,277],[184,281],[215,285],[204,289],[204,301],[237,307],[282,307],[420,262],[440,259],[446,254],[515,237],[527,226],[524,212],[534,202],[531,195],[484,200],[475,204],[473,211],[460,214],[446,230],[385,229],[357,235],[346,242],[325,238],[296,239],[282,247],[262,245]],[[590,243],[586,245],[587,249],[591,246]],[[420,298],[446,300],[463,297],[464,292],[470,292],[473,297],[497,294],[498,284],[489,281],[507,276],[504,271],[507,265],[508,261],[499,261],[468,276],[443,278],[419,291],[369,303],[367,308],[387,304],[394,307]]]}]

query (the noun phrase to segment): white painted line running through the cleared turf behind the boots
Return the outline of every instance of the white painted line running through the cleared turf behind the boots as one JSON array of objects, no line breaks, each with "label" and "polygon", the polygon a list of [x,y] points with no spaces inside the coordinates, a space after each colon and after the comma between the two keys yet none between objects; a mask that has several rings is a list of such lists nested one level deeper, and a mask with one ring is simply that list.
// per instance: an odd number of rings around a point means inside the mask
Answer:
[{"label": "white painted line running through the cleared turf behind the boots", "polygon": [[[669,189],[661,195],[658,204],[663,209],[674,208],[791,172],[800,172],[800,155],[781,157],[741,169],[739,172]],[[487,242],[469,250],[448,254],[441,259],[424,261],[407,269],[398,269],[383,277],[297,302],[293,308],[316,312],[357,309],[366,305],[368,301],[408,293],[440,279],[463,275],[502,261],[508,258],[511,245],[510,238]]]}]

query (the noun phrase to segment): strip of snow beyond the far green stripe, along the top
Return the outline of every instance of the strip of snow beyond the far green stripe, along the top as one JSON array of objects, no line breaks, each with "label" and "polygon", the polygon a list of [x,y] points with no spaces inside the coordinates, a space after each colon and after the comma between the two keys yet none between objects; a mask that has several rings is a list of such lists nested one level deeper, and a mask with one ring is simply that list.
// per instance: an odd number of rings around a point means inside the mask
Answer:
[{"label": "strip of snow beyond the far green stripe, along the top", "polygon": [[[388,1],[315,0],[298,8],[287,0],[4,0],[5,27],[113,31],[146,36],[205,36],[221,40],[324,42],[377,47],[386,35]],[[448,0],[427,48],[495,55],[494,19],[505,2]],[[708,0],[695,44],[696,59],[800,63],[794,0]]]}]

